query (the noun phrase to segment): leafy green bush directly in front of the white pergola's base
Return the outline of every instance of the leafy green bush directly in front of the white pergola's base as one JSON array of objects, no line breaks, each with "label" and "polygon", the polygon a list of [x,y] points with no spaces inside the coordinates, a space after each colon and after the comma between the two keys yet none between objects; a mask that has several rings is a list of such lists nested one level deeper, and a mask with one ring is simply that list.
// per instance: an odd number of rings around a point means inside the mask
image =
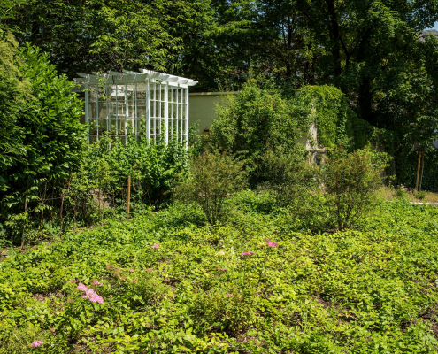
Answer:
[{"label": "leafy green bush directly in front of the white pergola's base", "polygon": [[185,144],[171,139],[151,143],[147,139],[128,137],[127,143],[111,136],[90,146],[89,168],[99,190],[114,205],[125,204],[127,177],[131,176],[134,206],[160,206],[187,167]]}]

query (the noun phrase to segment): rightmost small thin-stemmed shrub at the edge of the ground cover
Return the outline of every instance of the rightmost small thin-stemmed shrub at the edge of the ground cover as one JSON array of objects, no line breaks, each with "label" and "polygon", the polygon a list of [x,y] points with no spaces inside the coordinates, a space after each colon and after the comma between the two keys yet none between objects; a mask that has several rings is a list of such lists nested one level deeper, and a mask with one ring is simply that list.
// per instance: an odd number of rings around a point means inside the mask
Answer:
[{"label": "rightmost small thin-stemmed shrub at the edge of the ground cover", "polygon": [[333,150],[322,171],[327,212],[338,230],[353,227],[379,198],[387,158],[369,150]]}]

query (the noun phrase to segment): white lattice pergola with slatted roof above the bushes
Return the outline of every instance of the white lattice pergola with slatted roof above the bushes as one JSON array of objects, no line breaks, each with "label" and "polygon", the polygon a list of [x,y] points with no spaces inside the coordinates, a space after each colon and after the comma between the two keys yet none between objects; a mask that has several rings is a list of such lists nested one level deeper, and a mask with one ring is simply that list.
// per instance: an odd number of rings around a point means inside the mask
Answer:
[{"label": "white lattice pergola with slatted roof above the bushes", "polygon": [[165,143],[176,135],[188,144],[188,88],[197,81],[145,69],[77,74],[77,90],[85,93],[88,142],[104,134],[126,141],[131,134],[154,142],[164,135]]}]

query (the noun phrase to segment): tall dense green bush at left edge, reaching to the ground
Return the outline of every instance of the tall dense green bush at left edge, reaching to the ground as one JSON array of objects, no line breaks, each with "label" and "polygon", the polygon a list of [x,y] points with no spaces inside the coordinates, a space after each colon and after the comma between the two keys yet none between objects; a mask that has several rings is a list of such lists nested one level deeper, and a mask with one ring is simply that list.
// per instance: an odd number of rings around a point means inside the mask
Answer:
[{"label": "tall dense green bush at left edge, reaching to the ground", "polygon": [[5,78],[10,87],[0,94],[0,224],[23,244],[25,235],[39,234],[31,215],[47,209],[47,184],[63,189],[81,165],[86,127],[74,83],[38,48],[10,42],[10,60],[0,65],[1,73],[11,70]]}]

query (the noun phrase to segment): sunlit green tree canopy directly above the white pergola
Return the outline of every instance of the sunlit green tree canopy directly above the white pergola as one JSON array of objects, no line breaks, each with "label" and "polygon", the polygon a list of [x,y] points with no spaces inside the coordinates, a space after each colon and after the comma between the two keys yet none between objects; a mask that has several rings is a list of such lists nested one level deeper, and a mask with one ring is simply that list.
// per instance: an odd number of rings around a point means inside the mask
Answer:
[{"label": "sunlit green tree canopy directly above the white pergola", "polygon": [[139,67],[175,72],[186,44],[208,26],[210,11],[208,1],[29,0],[4,23],[17,28],[19,42],[50,53],[69,77]]}]

